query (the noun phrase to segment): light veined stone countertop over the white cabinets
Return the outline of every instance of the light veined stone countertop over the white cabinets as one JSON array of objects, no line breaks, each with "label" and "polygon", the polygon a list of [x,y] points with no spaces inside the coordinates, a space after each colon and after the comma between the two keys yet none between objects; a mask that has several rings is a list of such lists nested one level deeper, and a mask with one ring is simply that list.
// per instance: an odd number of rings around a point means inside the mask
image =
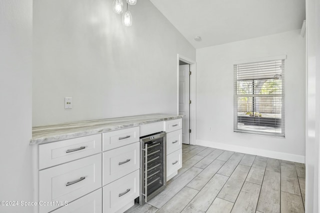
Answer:
[{"label": "light veined stone countertop over the white cabinets", "polygon": [[119,118],[78,121],[48,126],[32,127],[32,139],[29,144],[43,144],[93,135],[112,130],[141,126],[160,121],[182,118],[182,115],[146,114]]}]

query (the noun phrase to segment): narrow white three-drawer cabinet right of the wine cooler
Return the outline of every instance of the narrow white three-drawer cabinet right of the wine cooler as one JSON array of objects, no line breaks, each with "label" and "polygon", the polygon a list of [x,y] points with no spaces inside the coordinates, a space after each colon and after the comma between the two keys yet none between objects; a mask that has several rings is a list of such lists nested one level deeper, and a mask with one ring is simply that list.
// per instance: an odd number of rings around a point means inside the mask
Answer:
[{"label": "narrow white three-drawer cabinet right of the wine cooler", "polygon": [[166,181],[182,167],[182,119],[164,122],[166,132]]}]

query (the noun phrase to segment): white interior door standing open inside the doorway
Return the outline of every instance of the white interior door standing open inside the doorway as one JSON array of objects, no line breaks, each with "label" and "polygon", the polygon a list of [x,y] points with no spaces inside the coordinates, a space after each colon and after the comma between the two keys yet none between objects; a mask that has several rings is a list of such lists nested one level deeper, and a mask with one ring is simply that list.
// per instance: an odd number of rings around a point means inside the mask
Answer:
[{"label": "white interior door standing open inside the doorway", "polygon": [[182,118],[182,143],[189,144],[189,100],[190,100],[190,65],[179,65],[179,115],[184,115]]}]

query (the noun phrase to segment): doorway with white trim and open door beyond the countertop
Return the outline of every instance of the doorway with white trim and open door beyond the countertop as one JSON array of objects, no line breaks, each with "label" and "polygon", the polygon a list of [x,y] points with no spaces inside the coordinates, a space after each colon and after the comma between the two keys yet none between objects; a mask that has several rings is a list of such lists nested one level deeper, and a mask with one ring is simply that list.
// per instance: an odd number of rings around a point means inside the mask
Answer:
[{"label": "doorway with white trim and open door beyond the countertop", "polygon": [[195,62],[178,55],[177,78],[177,114],[183,115],[182,143],[195,145]]}]

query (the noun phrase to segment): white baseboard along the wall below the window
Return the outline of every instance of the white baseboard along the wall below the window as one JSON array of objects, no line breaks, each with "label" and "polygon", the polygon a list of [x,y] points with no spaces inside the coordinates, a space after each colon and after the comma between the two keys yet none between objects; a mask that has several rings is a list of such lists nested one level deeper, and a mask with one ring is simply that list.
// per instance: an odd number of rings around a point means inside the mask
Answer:
[{"label": "white baseboard along the wall below the window", "polygon": [[292,161],[292,162],[297,162],[302,164],[305,163],[305,156],[302,156],[302,155],[293,155],[293,154],[284,153],[284,152],[275,152],[270,150],[255,149],[250,147],[242,147],[242,146],[236,146],[231,144],[222,144],[222,143],[216,143],[216,142],[204,141],[204,140],[196,140],[195,143],[196,145],[199,145],[199,146],[211,147],[215,149],[240,152],[240,153],[245,153],[250,155],[258,155],[258,156],[263,156],[267,158]]}]

